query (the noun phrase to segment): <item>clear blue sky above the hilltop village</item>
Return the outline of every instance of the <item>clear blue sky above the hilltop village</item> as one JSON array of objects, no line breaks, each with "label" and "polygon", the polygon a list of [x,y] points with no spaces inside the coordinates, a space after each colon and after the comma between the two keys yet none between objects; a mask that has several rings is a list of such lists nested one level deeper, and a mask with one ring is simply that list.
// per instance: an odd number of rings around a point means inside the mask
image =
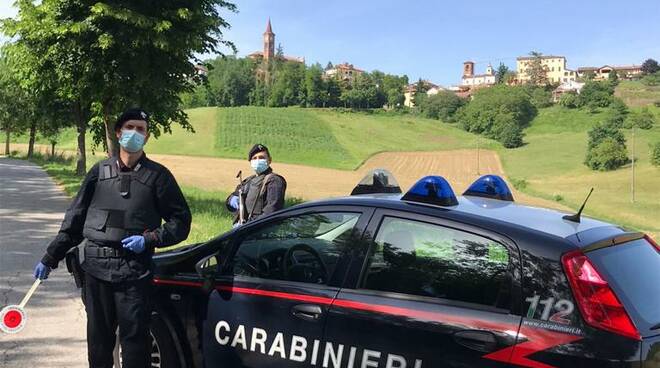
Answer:
[{"label": "clear blue sky above the hilltop village", "polygon": [[[15,15],[0,0],[0,17]],[[284,54],[325,66],[460,82],[462,63],[515,69],[530,51],[562,55],[568,67],[660,60],[660,0],[234,0],[221,12],[238,55],[263,50],[270,17]],[[228,50],[227,50],[228,51]]]}]

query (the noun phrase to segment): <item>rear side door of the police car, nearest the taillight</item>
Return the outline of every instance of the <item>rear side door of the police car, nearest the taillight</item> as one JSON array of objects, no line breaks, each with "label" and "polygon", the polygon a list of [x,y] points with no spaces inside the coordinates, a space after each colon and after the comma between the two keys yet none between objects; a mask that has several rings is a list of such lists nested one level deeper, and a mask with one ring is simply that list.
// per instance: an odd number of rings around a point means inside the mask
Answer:
[{"label": "rear side door of the police car, nearest the taillight", "polygon": [[521,322],[511,313],[520,300],[514,244],[392,210],[377,210],[366,234],[369,249],[328,312],[323,367],[507,365]]}]

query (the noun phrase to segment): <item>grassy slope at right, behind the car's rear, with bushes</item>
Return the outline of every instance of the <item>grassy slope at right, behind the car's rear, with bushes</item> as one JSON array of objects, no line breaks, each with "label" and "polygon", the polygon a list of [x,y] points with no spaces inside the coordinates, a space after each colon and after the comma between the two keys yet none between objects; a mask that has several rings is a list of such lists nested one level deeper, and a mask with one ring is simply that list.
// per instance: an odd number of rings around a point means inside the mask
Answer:
[{"label": "grassy slope at right, behind the car's rear, with bushes", "polygon": [[[651,108],[660,116],[660,109]],[[660,168],[650,164],[649,143],[660,142],[660,126],[637,130],[635,138],[635,203],[631,202],[631,170],[596,172],[583,164],[587,131],[604,117],[561,107],[543,109],[526,129],[525,146],[500,149],[504,170],[510,178],[527,183],[525,192],[558,200],[577,208],[589,188],[594,194],[585,212],[628,226],[660,234]],[[624,130],[628,149],[631,132]]]}]

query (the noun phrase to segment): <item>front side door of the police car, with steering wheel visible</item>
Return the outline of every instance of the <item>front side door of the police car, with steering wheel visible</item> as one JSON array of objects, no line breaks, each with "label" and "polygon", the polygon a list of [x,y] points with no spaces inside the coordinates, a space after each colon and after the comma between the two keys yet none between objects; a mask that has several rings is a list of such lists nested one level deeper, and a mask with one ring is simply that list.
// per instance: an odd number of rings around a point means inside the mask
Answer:
[{"label": "front side door of the police car, with steering wheel visible", "polygon": [[327,310],[372,213],[308,208],[239,231],[208,300],[206,366],[313,365]]}]

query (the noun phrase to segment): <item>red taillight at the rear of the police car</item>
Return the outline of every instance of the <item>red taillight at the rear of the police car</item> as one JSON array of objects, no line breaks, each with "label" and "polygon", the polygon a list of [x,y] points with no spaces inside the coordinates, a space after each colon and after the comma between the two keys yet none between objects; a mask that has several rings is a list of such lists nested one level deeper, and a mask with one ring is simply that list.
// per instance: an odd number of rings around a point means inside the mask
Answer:
[{"label": "red taillight at the rear of the police car", "polygon": [[641,338],[619,298],[584,253],[564,254],[561,261],[575,301],[589,325],[636,340]]}]

